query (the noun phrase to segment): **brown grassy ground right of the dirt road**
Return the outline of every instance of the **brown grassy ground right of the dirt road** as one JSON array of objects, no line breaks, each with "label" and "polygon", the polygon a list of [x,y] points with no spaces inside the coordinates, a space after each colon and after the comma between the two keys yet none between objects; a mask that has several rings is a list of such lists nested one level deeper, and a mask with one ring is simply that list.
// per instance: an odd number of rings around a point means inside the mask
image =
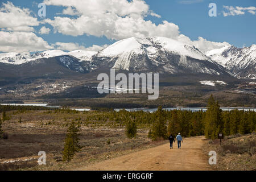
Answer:
[{"label": "brown grassy ground right of the dirt road", "polygon": [[204,146],[205,154],[217,152],[216,170],[256,170],[256,135],[255,133],[236,134],[225,137],[220,146],[220,139],[207,140]]}]

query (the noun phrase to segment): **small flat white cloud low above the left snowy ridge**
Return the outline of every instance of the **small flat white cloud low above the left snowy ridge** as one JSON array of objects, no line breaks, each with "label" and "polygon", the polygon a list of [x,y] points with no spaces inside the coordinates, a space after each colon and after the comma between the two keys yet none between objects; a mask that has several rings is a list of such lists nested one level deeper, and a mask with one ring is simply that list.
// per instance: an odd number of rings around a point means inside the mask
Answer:
[{"label": "small flat white cloud low above the left snowy ridge", "polygon": [[63,51],[75,51],[75,50],[100,51],[101,49],[104,49],[105,47],[108,47],[109,45],[104,44],[102,46],[93,45],[91,47],[84,47],[84,46],[80,46],[78,43],[56,42],[55,44],[52,44],[52,46],[56,47],[57,49],[63,50]]}]

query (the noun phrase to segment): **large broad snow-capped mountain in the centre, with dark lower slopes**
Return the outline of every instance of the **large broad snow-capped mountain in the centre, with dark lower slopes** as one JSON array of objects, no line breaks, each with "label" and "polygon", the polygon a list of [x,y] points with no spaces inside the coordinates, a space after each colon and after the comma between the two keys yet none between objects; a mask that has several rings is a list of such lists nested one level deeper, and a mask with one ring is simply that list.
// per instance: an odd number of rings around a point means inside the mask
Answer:
[{"label": "large broad snow-capped mountain in the centre, with dark lower slopes", "polygon": [[91,67],[160,73],[227,74],[199,49],[163,37],[120,40],[92,56]]}]

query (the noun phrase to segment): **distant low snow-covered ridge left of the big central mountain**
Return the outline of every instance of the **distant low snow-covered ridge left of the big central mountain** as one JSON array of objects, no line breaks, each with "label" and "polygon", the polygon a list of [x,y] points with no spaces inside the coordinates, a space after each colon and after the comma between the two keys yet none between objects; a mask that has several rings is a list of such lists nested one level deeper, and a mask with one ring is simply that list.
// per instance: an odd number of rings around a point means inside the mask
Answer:
[{"label": "distant low snow-covered ridge left of the big central mountain", "polygon": [[94,51],[71,51],[64,52],[61,50],[48,50],[44,52],[36,52],[34,54],[30,53],[17,53],[17,52],[9,52],[9,53],[0,53],[0,63],[8,63],[8,64],[23,64],[28,63],[30,61],[34,61],[42,58],[56,57],[56,56],[64,56],[71,55],[76,57],[80,61],[88,61],[95,54]]}]

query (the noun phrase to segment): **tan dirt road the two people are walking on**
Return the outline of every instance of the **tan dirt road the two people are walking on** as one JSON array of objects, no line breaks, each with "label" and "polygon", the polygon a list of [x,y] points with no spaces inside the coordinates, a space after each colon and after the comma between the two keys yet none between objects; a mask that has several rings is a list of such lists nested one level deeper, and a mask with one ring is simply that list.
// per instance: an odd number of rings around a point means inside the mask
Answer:
[{"label": "tan dirt road the two people are walking on", "polygon": [[185,138],[181,149],[170,149],[170,144],[149,148],[118,158],[105,160],[78,170],[210,170],[208,158],[201,151],[204,137]]}]

